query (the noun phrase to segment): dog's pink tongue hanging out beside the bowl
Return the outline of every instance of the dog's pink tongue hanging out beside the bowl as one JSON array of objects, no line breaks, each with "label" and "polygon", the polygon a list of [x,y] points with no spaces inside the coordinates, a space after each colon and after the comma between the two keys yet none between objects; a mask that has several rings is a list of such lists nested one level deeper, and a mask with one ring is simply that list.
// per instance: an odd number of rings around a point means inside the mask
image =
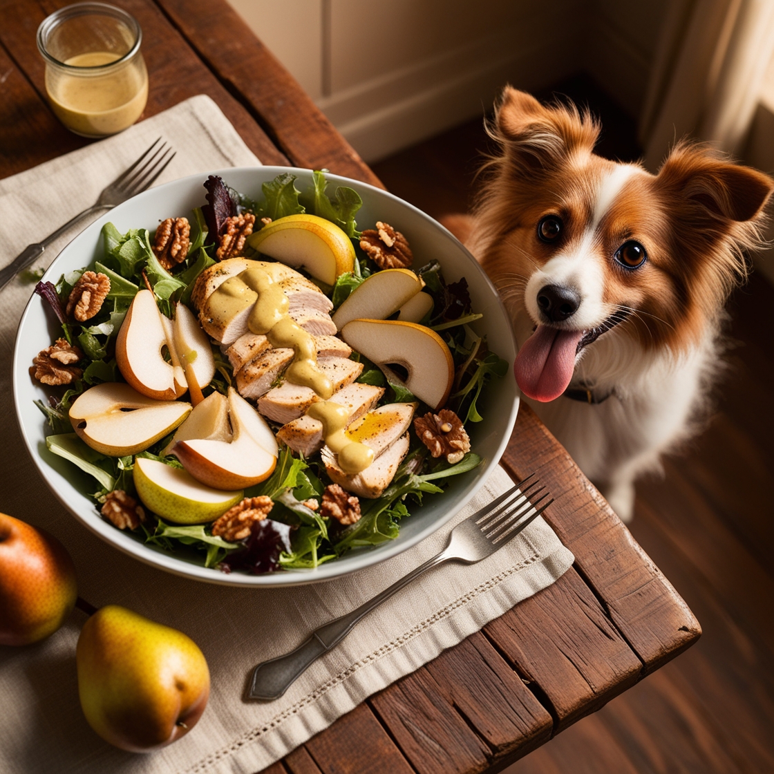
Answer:
[{"label": "dog's pink tongue hanging out beside the bowl", "polygon": [[533,400],[558,398],[570,384],[575,368],[575,350],[582,330],[557,330],[539,325],[513,364],[516,382]]}]

